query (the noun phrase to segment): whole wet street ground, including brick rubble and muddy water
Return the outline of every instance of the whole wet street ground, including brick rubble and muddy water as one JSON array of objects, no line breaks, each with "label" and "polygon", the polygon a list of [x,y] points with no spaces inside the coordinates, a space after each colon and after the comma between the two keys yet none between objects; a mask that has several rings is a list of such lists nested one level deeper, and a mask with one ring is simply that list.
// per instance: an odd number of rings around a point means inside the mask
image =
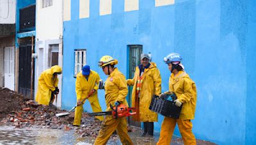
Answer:
[{"label": "whole wet street ground, including brick rubble and muddy water", "polygon": [[[67,112],[56,107],[38,106],[33,100],[25,99],[20,93],[0,87],[0,144],[93,144],[100,129],[100,121],[83,113],[81,127],[72,127],[74,113],[57,118],[56,113]],[[140,128],[129,128],[134,144],[156,144],[159,133],[154,137],[141,137]],[[197,140],[197,144],[214,144]],[[108,144],[121,144],[116,134]],[[173,145],[184,144],[173,137]]]}]

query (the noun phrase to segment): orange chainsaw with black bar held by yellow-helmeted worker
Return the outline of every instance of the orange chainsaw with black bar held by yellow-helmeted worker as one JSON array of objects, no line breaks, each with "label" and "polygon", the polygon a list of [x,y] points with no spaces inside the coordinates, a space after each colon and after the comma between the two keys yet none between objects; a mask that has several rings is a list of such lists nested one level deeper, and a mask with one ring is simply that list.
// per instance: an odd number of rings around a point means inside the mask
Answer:
[{"label": "orange chainsaw with black bar held by yellow-helmeted worker", "polygon": [[110,107],[112,111],[106,111],[106,112],[97,112],[97,113],[89,113],[89,116],[101,116],[101,115],[111,115],[113,118],[122,118],[122,117],[127,117],[136,114],[134,107],[127,107],[124,104],[120,104],[119,106],[112,106],[110,104]]}]

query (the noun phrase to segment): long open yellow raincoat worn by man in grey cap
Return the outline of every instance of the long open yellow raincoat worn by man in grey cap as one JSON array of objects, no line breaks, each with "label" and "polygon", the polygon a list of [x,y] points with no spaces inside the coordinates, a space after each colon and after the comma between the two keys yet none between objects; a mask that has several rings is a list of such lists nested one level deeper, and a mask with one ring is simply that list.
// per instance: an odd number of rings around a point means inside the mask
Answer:
[{"label": "long open yellow raincoat worn by man in grey cap", "polygon": [[[161,75],[159,69],[157,69],[156,63],[150,62],[148,69],[144,69],[144,73],[141,76],[143,79],[141,81],[140,88],[140,120],[134,119],[134,121],[143,122],[156,122],[157,113],[150,111],[149,106],[153,95],[159,95],[161,93]],[[127,79],[127,84],[129,86],[133,85],[132,88],[132,107],[135,107],[136,100],[136,86],[138,79],[140,78],[140,69],[136,67],[134,78]]]}]

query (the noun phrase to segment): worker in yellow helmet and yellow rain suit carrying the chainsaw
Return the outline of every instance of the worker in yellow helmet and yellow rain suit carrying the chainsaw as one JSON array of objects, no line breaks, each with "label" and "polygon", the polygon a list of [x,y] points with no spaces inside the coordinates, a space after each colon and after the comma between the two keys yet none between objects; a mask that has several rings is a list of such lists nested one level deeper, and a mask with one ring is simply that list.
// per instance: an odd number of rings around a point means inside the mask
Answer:
[{"label": "worker in yellow helmet and yellow rain suit carrying the chainsaw", "polygon": [[[104,86],[107,105],[106,111],[112,111],[110,104],[115,104],[115,106],[125,104],[128,106],[127,101],[125,100],[125,97],[128,93],[127,83],[125,81],[124,74],[118,71],[118,69],[115,67],[117,63],[118,61],[116,59],[113,59],[108,55],[103,56],[99,62],[99,67],[102,67],[102,71],[108,75]],[[127,121],[125,117],[113,118],[112,115],[106,116],[103,120],[99,135],[94,144],[106,144],[109,137],[115,130],[117,131],[122,144],[132,144],[131,138],[128,135]]]}]

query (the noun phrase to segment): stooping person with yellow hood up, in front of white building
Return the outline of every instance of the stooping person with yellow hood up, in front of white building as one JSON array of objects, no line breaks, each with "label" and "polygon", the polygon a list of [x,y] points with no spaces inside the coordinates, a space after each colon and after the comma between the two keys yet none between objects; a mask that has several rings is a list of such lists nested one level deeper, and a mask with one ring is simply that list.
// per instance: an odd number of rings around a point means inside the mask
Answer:
[{"label": "stooping person with yellow hood up, in front of white building", "polygon": [[46,105],[52,104],[54,95],[57,95],[58,89],[58,74],[61,74],[60,66],[52,66],[41,73],[38,78],[38,87],[36,92],[36,102],[38,104]]}]

